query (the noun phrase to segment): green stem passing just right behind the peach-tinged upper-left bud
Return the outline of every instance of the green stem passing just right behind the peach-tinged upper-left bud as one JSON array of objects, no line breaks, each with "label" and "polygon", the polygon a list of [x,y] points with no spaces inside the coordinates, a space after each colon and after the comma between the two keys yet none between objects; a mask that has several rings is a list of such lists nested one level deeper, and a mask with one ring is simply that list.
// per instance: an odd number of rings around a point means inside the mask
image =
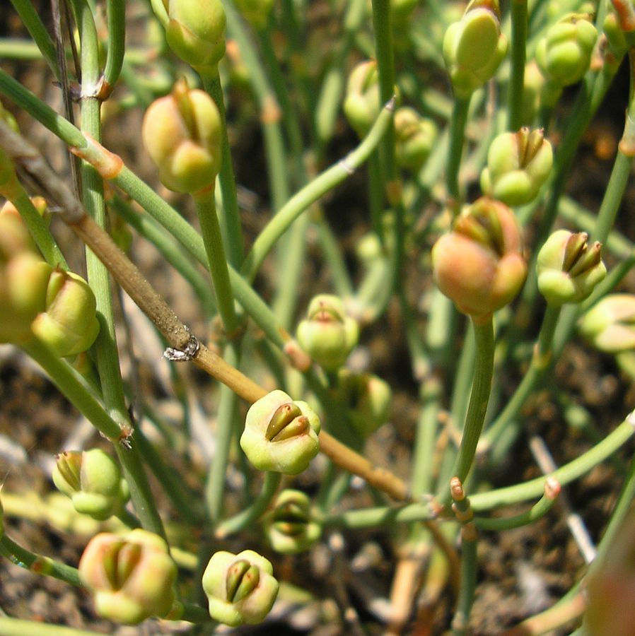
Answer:
[{"label": "green stem passing just right behind the peach-tinged upper-left bud", "polygon": [[227,253],[229,262],[235,267],[239,267],[243,262],[243,229],[240,225],[240,211],[238,209],[238,194],[236,192],[236,180],[234,177],[233,163],[231,160],[231,149],[229,147],[229,137],[227,134],[227,121],[225,117],[225,98],[223,98],[223,88],[218,73],[210,77],[202,76],[203,86],[211,95],[221,114],[223,148],[221,155],[221,172],[219,182],[221,184],[221,194],[223,196],[223,229],[226,237]]}]

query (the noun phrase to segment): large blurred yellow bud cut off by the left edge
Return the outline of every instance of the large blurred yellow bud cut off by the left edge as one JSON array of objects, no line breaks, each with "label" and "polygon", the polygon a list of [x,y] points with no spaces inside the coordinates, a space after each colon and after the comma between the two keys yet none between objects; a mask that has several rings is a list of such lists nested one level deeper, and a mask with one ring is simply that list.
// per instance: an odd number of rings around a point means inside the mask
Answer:
[{"label": "large blurred yellow bud cut off by the left edge", "polygon": [[52,267],[30,251],[5,260],[7,238],[0,235],[0,342],[20,343],[33,337],[31,323],[45,310]]}]

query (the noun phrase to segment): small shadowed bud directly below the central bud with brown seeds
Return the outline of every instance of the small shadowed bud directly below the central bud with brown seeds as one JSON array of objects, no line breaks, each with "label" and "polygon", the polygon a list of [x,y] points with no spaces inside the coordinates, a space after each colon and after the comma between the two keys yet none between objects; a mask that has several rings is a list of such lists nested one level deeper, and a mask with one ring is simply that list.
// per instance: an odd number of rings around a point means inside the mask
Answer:
[{"label": "small shadowed bud directly below the central bud with brown seeds", "polygon": [[318,541],[322,527],[311,519],[311,500],[300,490],[283,490],[264,517],[264,532],[281,554],[297,554]]}]

